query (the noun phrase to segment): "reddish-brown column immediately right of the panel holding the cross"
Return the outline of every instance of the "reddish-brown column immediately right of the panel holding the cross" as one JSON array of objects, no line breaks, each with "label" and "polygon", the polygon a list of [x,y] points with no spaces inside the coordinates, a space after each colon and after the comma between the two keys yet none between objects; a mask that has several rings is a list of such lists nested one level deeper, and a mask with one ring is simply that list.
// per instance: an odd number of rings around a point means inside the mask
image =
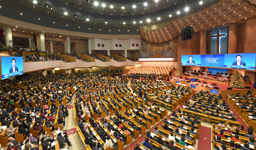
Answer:
[{"label": "reddish-brown column immediately right of the panel holding the cross", "polygon": [[229,24],[228,53],[237,52],[237,24]]}]

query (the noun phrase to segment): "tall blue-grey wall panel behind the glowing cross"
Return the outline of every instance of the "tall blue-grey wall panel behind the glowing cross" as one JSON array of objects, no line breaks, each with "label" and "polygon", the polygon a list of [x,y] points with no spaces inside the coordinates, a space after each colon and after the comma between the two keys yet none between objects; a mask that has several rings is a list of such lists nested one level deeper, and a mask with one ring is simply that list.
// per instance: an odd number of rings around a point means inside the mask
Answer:
[{"label": "tall blue-grey wall panel behind the glowing cross", "polygon": [[219,53],[228,53],[228,30],[228,26],[211,30],[211,54],[217,53],[217,40],[219,40]]}]

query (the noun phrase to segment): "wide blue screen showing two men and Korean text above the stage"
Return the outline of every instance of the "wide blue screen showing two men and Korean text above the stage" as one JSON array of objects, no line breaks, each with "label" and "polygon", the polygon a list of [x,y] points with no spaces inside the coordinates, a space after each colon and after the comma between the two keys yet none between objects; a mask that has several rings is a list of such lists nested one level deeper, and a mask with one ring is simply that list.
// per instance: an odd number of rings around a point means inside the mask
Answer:
[{"label": "wide blue screen showing two men and Korean text above the stage", "polygon": [[182,66],[255,70],[256,53],[182,55]]}]

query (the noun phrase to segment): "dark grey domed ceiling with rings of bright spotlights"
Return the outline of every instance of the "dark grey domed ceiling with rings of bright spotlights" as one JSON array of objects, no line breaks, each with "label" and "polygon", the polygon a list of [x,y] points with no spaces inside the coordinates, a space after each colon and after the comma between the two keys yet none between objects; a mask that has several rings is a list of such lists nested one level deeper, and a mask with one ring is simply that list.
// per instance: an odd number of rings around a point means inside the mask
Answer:
[{"label": "dark grey domed ceiling with rings of bright spotlights", "polygon": [[[94,3],[86,0],[36,0],[41,2],[41,5],[33,1],[2,0],[0,15],[45,27],[98,34],[140,34],[140,25],[185,15],[185,0],[93,0]],[[188,13],[192,13],[218,0],[187,1]],[[200,1],[203,2],[202,5],[199,4]],[[98,6],[95,6],[96,2]],[[144,5],[145,2],[147,6]],[[102,7],[103,3],[105,7]],[[49,7],[53,9],[50,10]],[[177,14],[177,11],[180,11],[180,14]],[[172,17],[169,17],[170,14]],[[147,19],[150,19],[150,22],[147,22]]]}]

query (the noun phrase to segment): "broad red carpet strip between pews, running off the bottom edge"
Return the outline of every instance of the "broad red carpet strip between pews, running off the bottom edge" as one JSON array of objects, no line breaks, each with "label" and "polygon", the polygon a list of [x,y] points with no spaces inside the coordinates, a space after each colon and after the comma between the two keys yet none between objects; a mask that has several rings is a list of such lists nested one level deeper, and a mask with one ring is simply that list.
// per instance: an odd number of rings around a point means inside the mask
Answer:
[{"label": "broad red carpet strip between pews, running off the bottom edge", "polygon": [[211,128],[201,126],[198,150],[211,150]]}]

